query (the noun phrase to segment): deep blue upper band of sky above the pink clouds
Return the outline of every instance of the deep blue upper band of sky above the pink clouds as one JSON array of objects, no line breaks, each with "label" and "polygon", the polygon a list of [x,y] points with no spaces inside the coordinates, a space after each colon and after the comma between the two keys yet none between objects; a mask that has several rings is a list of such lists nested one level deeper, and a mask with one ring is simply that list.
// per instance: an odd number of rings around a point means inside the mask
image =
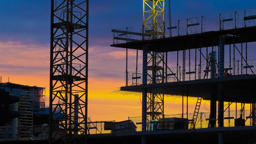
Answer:
[{"label": "deep blue upper band of sky above the pink clouds", "polygon": [[[255,8],[254,0],[171,0],[173,20],[205,15],[215,24],[215,14]],[[168,0],[165,17],[168,20]],[[49,43],[50,0],[1,0],[1,41]],[[90,0],[89,45],[108,45],[111,29],[142,24],[142,0]],[[100,40],[100,41],[97,41]]]}]

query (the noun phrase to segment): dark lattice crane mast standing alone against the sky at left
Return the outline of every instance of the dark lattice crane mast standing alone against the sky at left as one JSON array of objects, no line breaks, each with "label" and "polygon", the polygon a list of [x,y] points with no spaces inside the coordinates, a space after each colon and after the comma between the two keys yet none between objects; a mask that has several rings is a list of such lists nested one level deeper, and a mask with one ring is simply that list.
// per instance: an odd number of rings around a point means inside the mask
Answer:
[{"label": "dark lattice crane mast standing alone against the sky at left", "polygon": [[88,0],[51,0],[49,143],[85,143],[88,4]]}]

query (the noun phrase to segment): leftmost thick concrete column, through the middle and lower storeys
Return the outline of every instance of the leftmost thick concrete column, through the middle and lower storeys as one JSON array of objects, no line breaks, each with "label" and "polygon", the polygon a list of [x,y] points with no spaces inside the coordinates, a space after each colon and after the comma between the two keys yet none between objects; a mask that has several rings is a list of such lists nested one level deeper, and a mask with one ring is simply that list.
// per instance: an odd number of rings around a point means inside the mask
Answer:
[{"label": "leftmost thick concrete column, through the middle and lower storeys", "polygon": [[[143,46],[142,85],[147,85],[147,45]],[[142,131],[147,131],[147,89],[142,90]]]}]

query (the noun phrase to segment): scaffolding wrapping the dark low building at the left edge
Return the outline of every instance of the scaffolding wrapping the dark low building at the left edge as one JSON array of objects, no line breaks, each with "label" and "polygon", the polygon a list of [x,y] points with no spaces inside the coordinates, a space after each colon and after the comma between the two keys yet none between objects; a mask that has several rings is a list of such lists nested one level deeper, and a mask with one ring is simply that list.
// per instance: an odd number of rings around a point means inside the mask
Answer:
[{"label": "scaffolding wrapping the dark low building at the left edge", "polygon": [[9,82],[1,83],[0,88],[20,97],[18,103],[10,105],[10,110],[19,111],[20,116],[0,127],[0,139],[33,137],[33,114],[45,113],[45,88]]}]

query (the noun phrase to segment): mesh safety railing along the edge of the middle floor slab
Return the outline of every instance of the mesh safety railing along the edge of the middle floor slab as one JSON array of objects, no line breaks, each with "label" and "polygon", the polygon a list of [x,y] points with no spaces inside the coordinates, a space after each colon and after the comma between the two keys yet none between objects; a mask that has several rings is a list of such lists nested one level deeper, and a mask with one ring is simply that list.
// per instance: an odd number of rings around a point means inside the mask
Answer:
[{"label": "mesh safety railing along the edge of the middle floor slab", "polygon": [[[247,63],[241,60],[236,60],[234,62],[225,62],[225,70],[232,75],[254,75],[256,73],[256,59],[249,59]],[[165,70],[164,70],[165,71]],[[218,77],[218,67],[216,69],[207,69],[206,64],[198,64],[193,66],[181,67],[171,67],[167,69],[167,73],[163,75],[156,75],[156,79],[160,79],[161,77],[165,77],[163,83],[169,82],[182,82],[182,81],[191,81],[191,80],[202,80],[202,79],[210,79]],[[148,84],[151,82],[151,71],[148,71]],[[163,78],[161,78],[163,80]],[[125,72],[125,85],[126,86],[136,86],[142,84],[142,71],[132,71]]]}]

